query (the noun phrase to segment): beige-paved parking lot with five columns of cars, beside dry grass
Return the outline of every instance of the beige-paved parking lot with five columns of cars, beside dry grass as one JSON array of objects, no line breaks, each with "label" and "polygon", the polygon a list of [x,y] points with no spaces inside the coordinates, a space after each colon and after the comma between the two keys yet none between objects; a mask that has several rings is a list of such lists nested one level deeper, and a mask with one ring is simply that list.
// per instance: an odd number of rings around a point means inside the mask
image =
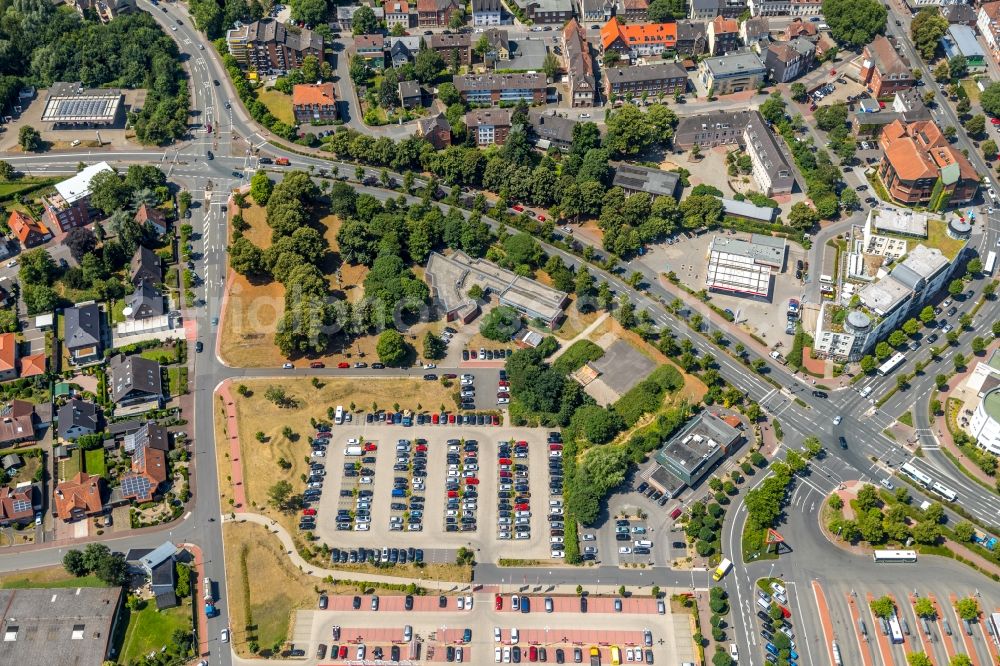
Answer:
[{"label": "beige-paved parking lot with five columns of cars, beside dry grass", "polygon": [[[490,554],[489,559],[550,557],[549,539],[540,538],[549,534],[543,529],[550,458],[544,431],[471,425],[405,427],[357,419],[333,426],[330,434],[325,455],[317,458],[325,464],[326,474],[322,492],[311,496],[309,509],[316,511],[315,522],[300,525],[321,541],[341,549],[430,546],[449,551],[466,546],[482,549]],[[524,457],[510,458],[509,466],[511,474],[521,476],[517,484],[502,488],[504,477],[498,476],[492,461],[501,458],[502,446],[518,446],[519,442],[524,442],[519,447]],[[524,469],[515,470],[515,461]],[[513,500],[529,493],[528,488],[535,493],[533,506],[503,508],[498,493]],[[501,511],[507,511],[507,516],[501,516]],[[510,531],[504,534],[495,528],[501,517],[515,511],[523,512],[516,518],[526,519],[522,524],[533,538],[515,540]]]}]

